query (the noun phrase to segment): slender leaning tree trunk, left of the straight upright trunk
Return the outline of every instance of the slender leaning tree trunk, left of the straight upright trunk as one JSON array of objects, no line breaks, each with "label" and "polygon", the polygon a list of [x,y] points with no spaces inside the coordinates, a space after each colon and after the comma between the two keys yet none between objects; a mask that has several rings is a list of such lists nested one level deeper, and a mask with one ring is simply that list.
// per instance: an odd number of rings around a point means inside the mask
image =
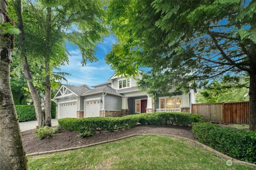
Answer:
[{"label": "slender leaning tree trunk, left of the straight upright trunk", "polygon": [[21,31],[19,34],[19,37],[20,37],[20,39],[19,39],[20,40],[19,41],[20,60],[23,65],[23,70],[24,70],[24,74],[26,77],[26,81],[28,84],[30,94],[34,101],[37,124],[38,124],[38,126],[44,126],[44,114],[42,112],[41,101],[39,99],[38,92],[36,91],[34,83],[32,81],[32,76],[31,76],[30,69],[29,69],[28,59],[26,56],[25,33],[24,33],[23,20],[22,20],[22,15],[21,15],[21,1],[20,0],[16,0],[15,7],[16,7],[16,10],[17,10],[16,12],[17,12],[17,16],[18,16],[18,27]]}]

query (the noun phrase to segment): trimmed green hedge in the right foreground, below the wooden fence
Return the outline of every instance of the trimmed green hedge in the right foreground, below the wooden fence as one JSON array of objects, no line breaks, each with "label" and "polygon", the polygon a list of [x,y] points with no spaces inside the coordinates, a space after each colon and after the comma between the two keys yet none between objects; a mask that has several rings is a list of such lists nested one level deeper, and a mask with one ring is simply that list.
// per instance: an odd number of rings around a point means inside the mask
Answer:
[{"label": "trimmed green hedge in the right foreground, below the wooden fence", "polygon": [[230,157],[256,163],[256,133],[212,123],[193,124],[193,132],[205,145]]}]

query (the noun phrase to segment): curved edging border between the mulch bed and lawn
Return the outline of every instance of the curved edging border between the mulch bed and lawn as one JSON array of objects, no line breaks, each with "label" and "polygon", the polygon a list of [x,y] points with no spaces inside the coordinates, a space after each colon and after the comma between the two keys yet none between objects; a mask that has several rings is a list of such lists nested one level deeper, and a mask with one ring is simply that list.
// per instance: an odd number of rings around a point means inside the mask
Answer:
[{"label": "curved edging border between the mulch bed and lawn", "polygon": [[222,158],[225,158],[225,159],[229,159],[231,160],[232,162],[234,163],[238,163],[238,164],[245,164],[245,165],[248,165],[248,166],[251,166],[251,167],[254,167],[256,168],[256,165],[255,164],[251,164],[251,163],[247,163],[247,162],[244,162],[244,161],[241,161],[241,160],[238,160],[238,159],[235,159],[235,158],[231,158],[227,155],[224,155],[222,154],[221,152],[217,151],[217,150],[214,150],[212,149],[211,147],[208,147],[200,142],[197,142],[195,140],[191,140],[191,139],[188,139],[188,138],[184,138],[184,137],[179,137],[177,135],[172,135],[172,134],[156,134],[156,133],[151,133],[151,134],[131,134],[131,135],[127,135],[126,137],[122,137],[122,138],[117,138],[117,139],[113,139],[113,140],[107,140],[107,141],[103,141],[103,142],[98,142],[98,143],[92,143],[90,145],[84,145],[84,146],[79,146],[79,147],[71,147],[71,148],[65,148],[65,149],[57,149],[57,150],[50,150],[50,151],[43,151],[43,152],[35,152],[35,153],[31,153],[31,154],[26,154],[26,156],[36,156],[36,155],[44,155],[44,154],[53,154],[55,152],[62,152],[62,151],[68,151],[68,150],[75,150],[75,149],[81,149],[81,148],[86,148],[86,147],[92,147],[92,146],[97,146],[97,145],[101,145],[101,144],[104,144],[104,143],[109,143],[109,142],[114,142],[114,141],[118,141],[118,140],[123,140],[123,139],[126,139],[126,138],[131,138],[131,137],[135,137],[135,136],[139,136],[139,135],[166,135],[166,136],[170,136],[170,137],[174,137],[174,138],[181,138],[181,139],[185,139],[185,140],[188,140],[188,141],[191,141],[193,143],[196,143],[197,145],[200,145],[202,146],[204,149],[206,150],[209,150],[210,152],[212,152],[213,154],[215,155],[218,155],[218,156],[221,156]]}]

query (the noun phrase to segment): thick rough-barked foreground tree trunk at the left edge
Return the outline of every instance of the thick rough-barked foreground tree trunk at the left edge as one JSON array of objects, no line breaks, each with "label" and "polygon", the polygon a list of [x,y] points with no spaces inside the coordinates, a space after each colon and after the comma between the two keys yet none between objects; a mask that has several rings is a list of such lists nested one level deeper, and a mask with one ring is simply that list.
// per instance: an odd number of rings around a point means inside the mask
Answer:
[{"label": "thick rough-barked foreground tree trunk at the left edge", "polygon": [[[3,22],[12,22],[6,7],[6,1],[0,0]],[[0,32],[0,169],[22,170],[27,169],[27,161],[10,87],[13,38]]]}]

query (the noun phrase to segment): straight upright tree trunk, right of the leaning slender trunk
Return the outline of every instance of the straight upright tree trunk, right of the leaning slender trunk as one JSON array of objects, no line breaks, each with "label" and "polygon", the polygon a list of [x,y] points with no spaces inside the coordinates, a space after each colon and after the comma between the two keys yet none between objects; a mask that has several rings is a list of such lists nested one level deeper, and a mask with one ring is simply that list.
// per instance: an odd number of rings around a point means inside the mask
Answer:
[{"label": "straight upright tree trunk, right of the leaning slender trunk", "polygon": [[51,81],[50,81],[50,49],[51,49],[51,7],[47,7],[46,40],[45,40],[45,125],[51,126]]}]

